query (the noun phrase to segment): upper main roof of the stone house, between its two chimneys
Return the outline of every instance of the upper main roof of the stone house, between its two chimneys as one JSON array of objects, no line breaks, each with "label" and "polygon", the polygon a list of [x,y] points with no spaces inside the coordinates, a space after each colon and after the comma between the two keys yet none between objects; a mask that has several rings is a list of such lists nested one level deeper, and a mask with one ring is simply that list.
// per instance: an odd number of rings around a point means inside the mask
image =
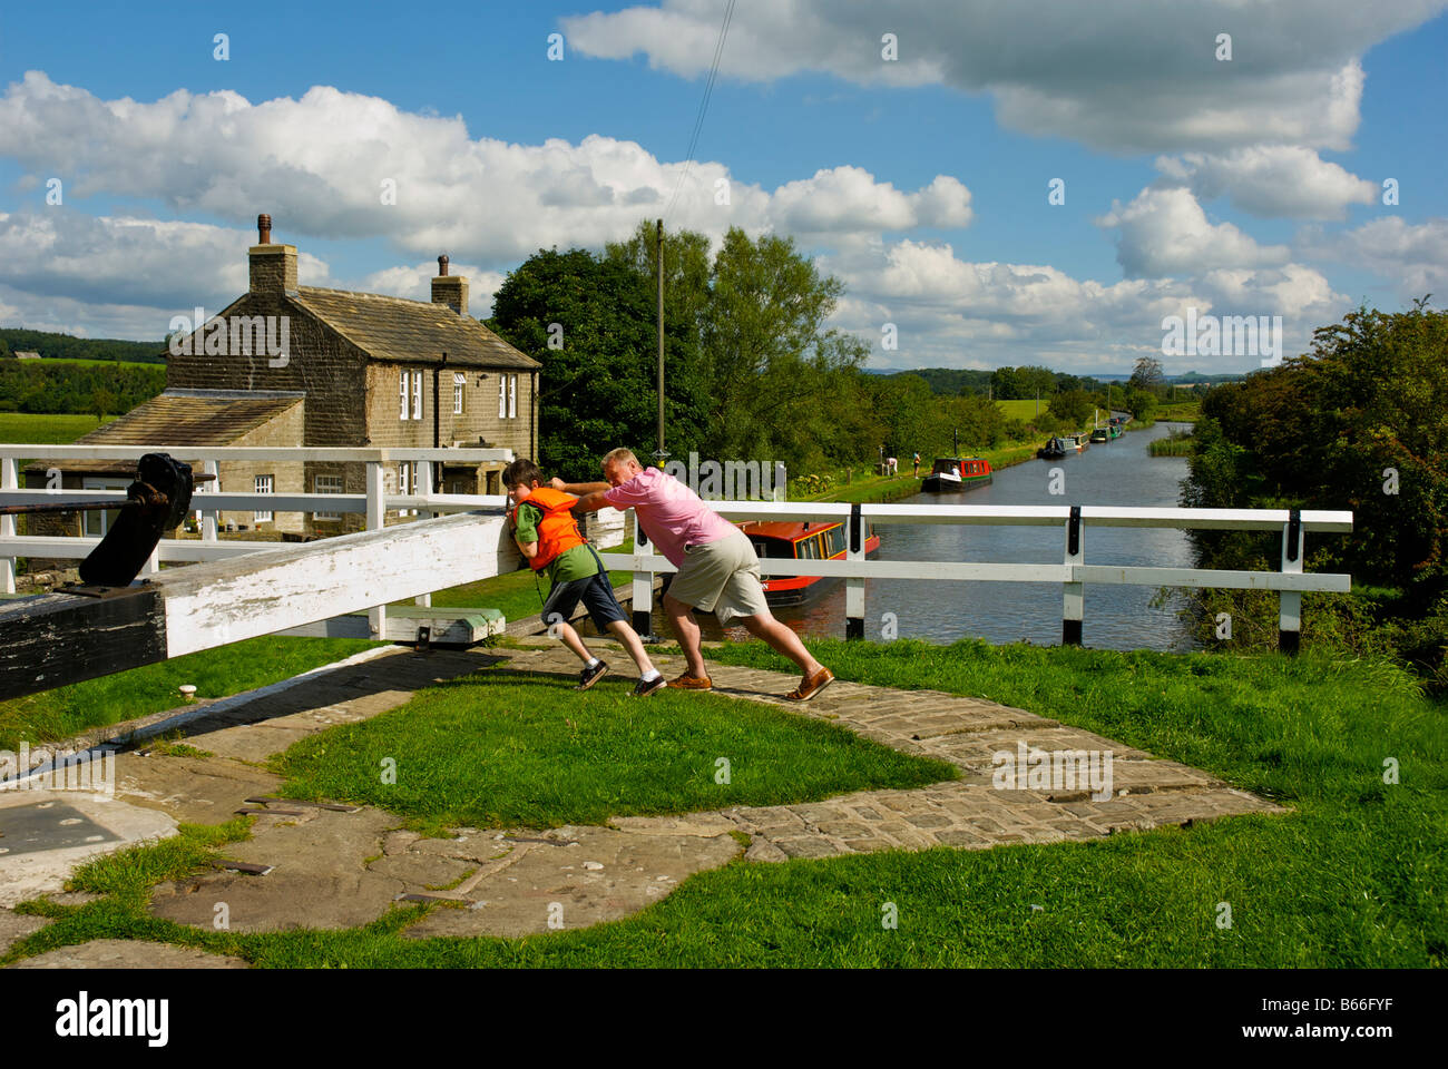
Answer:
[{"label": "upper main roof of the stone house, between its two chimneys", "polygon": [[310,285],[303,285],[291,300],[372,359],[432,364],[446,352],[449,365],[520,371],[543,366],[472,316],[459,316],[446,304]]}]

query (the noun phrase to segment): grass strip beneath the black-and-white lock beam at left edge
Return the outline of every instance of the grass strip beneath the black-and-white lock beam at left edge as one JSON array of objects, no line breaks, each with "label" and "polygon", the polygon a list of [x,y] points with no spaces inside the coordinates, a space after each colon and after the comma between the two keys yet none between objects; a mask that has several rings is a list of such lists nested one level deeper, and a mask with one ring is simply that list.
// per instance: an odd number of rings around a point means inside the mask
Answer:
[{"label": "grass strip beneath the black-and-white lock beam at left edge", "polygon": [[198,698],[288,679],[381,643],[365,639],[284,639],[275,634],[188,653],[155,665],[0,701],[0,749],[55,742],[87,727],[116,724],[182,703],[177,688],[193,684]]}]

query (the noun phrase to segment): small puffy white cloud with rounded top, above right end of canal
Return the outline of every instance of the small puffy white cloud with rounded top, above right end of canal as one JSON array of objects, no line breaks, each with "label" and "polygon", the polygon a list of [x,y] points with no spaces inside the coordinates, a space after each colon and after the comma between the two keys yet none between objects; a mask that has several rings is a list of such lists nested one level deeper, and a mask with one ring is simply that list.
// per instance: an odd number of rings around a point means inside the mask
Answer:
[{"label": "small puffy white cloud with rounded top, above right end of canal", "polygon": [[1184,188],[1145,188],[1125,207],[1112,201],[1096,222],[1116,227],[1116,262],[1128,278],[1281,265],[1290,255],[1286,245],[1258,245],[1231,223],[1209,222]]}]

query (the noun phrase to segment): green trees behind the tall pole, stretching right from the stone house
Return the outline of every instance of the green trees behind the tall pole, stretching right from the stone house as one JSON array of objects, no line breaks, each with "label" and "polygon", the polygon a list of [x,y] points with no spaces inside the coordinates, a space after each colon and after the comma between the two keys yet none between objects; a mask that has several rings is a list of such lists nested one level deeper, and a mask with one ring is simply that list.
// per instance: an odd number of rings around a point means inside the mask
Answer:
[{"label": "green trees behind the tall pole, stretching right from the stone house", "polygon": [[[543,364],[537,459],[549,474],[591,479],[611,446],[641,459],[659,448],[657,255],[644,222],[601,253],[540,249],[495,294],[488,326]],[[704,235],[672,232],[663,267],[672,456],[773,461],[804,474],[872,464],[882,449],[928,459],[956,436],[963,449],[1030,440],[1105,408],[1103,384],[1047,368],[866,372],[870,345],[825,326],[843,284],[788,238],[731,229],[711,255]],[[1158,362],[1134,385],[1116,385],[1114,404],[1135,403],[1138,416],[1170,394]],[[1037,390],[1043,411],[1030,422],[988,400]]]}]

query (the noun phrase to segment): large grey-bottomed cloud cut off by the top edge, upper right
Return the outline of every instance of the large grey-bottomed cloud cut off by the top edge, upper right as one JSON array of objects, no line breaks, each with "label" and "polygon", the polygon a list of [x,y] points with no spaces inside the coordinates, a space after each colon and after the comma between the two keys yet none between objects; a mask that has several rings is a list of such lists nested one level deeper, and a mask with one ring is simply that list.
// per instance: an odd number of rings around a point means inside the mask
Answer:
[{"label": "large grey-bottomed cloud cut off by the top edge, upper right", "polygon": [[[1034,135],[1114,151],[1170,152],[1283,142],[1344,149],[1358,125],[1373,45],[1418,26],[1445,0],[896,0],[740,4],[720,72],[772,83],[824,71],[857,84],[941,84],[988,93],[999,119]],[[714,56],[720,4],[662,0],[560,20],[584,55],[686,78]],[[898,59],[882,58],[895,33]],[[1216,59],[1216,38],[1232,58]]]}]

